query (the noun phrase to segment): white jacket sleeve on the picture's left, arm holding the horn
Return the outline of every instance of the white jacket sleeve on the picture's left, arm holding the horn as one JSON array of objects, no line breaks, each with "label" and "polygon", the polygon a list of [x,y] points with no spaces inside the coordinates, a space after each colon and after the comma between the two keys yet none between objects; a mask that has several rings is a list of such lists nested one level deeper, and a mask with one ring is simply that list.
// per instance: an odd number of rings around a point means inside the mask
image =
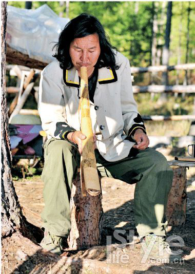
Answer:
[{"label": "white jacket sleeve on the picture's left, arm holding the horn", "polygon": [[75,131],[66,120],[66,109],[62,89],[42,71],[38,99],[38,112],[42,128],[48,136],[67,140],[67,134]]}]

